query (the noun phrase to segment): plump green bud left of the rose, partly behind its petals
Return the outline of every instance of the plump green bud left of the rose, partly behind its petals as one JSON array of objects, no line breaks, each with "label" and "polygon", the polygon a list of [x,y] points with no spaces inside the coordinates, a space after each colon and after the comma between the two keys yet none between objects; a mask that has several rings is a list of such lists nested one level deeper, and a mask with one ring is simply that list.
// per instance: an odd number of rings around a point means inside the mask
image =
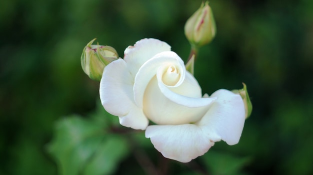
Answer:
[{"label": "plump green bud left of the rose, partly behind its petals", "polygon": [[96,38],[92,39],[82,50],[80,57],[81,68],[92,80],[99,81],[104,67],[118,58],[113,47],[91,45]]}]

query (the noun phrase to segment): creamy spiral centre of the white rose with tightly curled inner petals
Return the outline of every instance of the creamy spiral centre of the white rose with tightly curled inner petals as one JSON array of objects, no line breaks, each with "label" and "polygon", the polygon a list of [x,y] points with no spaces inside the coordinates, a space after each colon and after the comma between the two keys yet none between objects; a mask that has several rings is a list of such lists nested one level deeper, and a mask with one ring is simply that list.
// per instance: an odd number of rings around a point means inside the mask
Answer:
[{"label": "creamy spiral centre of the white rose with tightly curled inner petals", "polygon": [[[173,86],[163,82],[163,75],[169,67],[175,67],[180,73]],[[201,98],[198,83],[186,73],[182,60],[174,52],[161,52],[142,65],[135,78],[134,95],[145,116],[160,125],[194,123],[201,119],[215,99]]]}]

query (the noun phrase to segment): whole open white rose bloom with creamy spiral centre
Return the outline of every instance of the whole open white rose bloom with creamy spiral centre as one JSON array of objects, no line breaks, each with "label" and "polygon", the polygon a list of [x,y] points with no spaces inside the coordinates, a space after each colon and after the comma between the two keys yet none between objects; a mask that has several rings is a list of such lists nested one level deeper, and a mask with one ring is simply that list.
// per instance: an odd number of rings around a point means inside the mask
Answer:
[{"label": "whole open white rose bloom with creamy spiral centre", "polygon": [[203,155],[220,140],[237,144],[243,129],[241,97],[224,89],[202,97],[181,58],[157,39],[137,41],[124,59],[108,64],[99,92],[104,109],[122,126],[145,130],[155,149],[179,162]]}]

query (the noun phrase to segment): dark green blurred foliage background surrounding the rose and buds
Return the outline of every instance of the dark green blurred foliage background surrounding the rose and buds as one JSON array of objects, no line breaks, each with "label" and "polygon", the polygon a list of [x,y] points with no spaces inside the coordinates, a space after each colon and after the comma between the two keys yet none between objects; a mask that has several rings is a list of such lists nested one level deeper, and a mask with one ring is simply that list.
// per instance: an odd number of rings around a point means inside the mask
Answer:
[{"label": "dark green blurred foliage background surrounding the rose and buds", "polygon": [[[183,26],[200,3],[1,0],[0,175],[57,173],[46,151],[55,121],[87,116],[99,99],[99,83],[80,67],[80,54],[91,39],[122,56],[135,41],[158,38],[186,60]],[[217,35],[200,49],[195,77],[208,94],[239,89],[244,82],[253,104],[239,144],[219,142],[210,151],[248,158],[241,170],[246,175],[313,174],[313,1],[209,4]],[[169,174],[183,172],[181,167]]]}]

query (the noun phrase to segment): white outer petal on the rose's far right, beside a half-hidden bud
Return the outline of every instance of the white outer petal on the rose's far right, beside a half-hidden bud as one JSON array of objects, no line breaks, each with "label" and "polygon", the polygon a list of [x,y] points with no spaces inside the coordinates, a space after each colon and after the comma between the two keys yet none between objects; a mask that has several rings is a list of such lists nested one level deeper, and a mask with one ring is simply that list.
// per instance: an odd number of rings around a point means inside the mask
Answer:
[{"label": "white outer petal on the rose's far right, beside a half-hidden bud", "polygon": [[228,145],[239,142],[245,120],[244,104],[240,95],[220,89],[211,97],[217,97],[207,113],[197,123],[203,131],[215,133]]}]

